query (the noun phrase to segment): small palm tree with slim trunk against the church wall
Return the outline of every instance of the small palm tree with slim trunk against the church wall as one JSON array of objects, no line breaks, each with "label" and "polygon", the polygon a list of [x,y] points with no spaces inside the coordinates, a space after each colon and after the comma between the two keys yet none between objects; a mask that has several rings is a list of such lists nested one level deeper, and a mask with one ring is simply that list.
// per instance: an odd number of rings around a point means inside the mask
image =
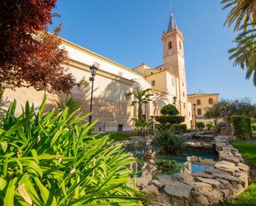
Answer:
[{"label": "small palm tree with slim trunk against the church wall", "polygon": [[152,89],[137,89],[133,93],[126,93],[127,96],[133,95],[134,99],[132,105],[138,104],[138,119],[142,120],[142,105],[152,101],[150,98],[154,94],[150,93]]}]

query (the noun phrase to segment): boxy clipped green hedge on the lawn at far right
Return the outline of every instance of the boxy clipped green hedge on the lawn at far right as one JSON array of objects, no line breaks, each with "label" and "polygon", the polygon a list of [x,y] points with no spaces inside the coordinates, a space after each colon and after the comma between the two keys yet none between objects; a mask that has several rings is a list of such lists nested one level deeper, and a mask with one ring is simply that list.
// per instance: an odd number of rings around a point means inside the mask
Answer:
[{"label": "boxy clipped green hedge on the lawn at far right", "polygon": [[243,115],[236,115],[231,117],[233,125],[234,136],[248,139],[252,137],[251,118]]}]

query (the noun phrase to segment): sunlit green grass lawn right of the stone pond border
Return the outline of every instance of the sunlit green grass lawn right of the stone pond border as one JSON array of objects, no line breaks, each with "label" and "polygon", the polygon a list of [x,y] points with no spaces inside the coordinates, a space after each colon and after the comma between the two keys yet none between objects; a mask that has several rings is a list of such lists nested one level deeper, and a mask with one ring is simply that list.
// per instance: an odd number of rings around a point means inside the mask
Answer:
[{"label": "sunlit green grass lawn right of the stone pond border", "polygon": [[[232,145],[239,150],[248,165],[256,166],[256,144],[233,141]],[[249,189],[247,189],[239,199],[228,203],[216,204],[215,206],[256,206],[256,179],[252,181],[252,184],[249,185]]]}]

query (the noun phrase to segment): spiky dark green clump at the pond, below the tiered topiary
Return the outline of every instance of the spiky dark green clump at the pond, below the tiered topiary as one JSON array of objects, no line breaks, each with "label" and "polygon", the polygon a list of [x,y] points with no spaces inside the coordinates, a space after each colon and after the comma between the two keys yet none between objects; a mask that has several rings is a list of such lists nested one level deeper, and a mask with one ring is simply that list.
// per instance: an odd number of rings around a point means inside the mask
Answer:
[{"label": "spiky dark green clump at the pond, below the tiered topiary", "polygon": [[159,130],[154,142],[165,152],[177,152],[182,149],[186,142],[186,137],[173,134],[169,130]]}]

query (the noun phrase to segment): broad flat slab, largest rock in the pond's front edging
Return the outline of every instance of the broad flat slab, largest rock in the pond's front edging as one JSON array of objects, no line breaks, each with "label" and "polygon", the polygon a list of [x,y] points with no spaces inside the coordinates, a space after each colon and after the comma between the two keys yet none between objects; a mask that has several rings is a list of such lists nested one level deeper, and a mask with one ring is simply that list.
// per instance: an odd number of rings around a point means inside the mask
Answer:
[{"label": "broad flat slab, largest rock in the pond's front edging", "polygon": [[173,196],[176,198],[185,198],[185,199],[190,198],[191,189],[192,187],[190,185],[184,184],[179,181],[172,181],[171,184],[167,184],[164,187],[164,190],[170,196]]}]

